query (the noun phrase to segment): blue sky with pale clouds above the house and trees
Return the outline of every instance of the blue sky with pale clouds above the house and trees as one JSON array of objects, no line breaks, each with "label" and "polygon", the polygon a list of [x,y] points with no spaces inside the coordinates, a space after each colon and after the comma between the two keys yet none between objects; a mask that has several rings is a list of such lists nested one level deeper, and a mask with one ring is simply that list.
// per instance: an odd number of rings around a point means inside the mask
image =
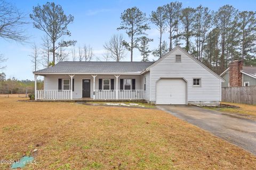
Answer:
[{"label": "blue sky with pale clouds above the house and trees", "polygon": [[[15,4],[20,11],[27,14],[27,20],[29,19],[29,13],[32,12],[33,6],[37,4],[43,5],[47,1],[9,1]],[[52,2],[52,1],[50,1]],[[117,0],[117,1],[54,1],[56,4],[62,6],[66,14],[71,14],[75,17],[74,23],[68,26],[71,31],[71,37],[66,39],[77,40],[77,46],[83,46],[84,44],[90,44],[94,52],[94,60],[96,57],[103,61],[103,44],[108,41],[111,35],[115,33],[122,33],[125,39],[127,36],[124,31],[117,31],[116,28],[120,24],[121,13],[129,7],[137,6],[141,11],[147,15],[151,11],[156,10],[158,6],[170,3],[171,1],[132,1],[132,0]],[[256,1],[180,1],[183,7],[197,7],[202,4],[209,7],[211,10],[217,11],[222,5],[233,5],[240,11],[248,10],[255,11]],[[147,31],[148,37],[153,38],[154,41],[150,43],[150,49],[154,49],[158,45],[159,33],[155,29],[154,25],[150,25],[151,30]],[[27,24],[24,27],[27,31],[27,35],[30,36],[28,40],[30,43],[42,44],[41,37],[44,35],[43,31],[33,28],[33,24]],[[167,40],[167,33],[164,35],[164,40]],[[13,41],[0,39],[0,53],[8,58],[4,63],[6,68],[0,72],[6,73],[6,78],[18,78],[21,79],[34,79],[32,73],[32,64],[29,54],[32,52],[31,44],[29,43],[15,43]],[[67,49],[68,50],[68,49]],[[150,56],[150,60],[153,60],[153,56]],[[130,53],[127,52],[127,57],[123,61],[129,61]],[[71,60],[71,59],[70,59]],[[134,52],[134,61],[140,61],[141,56],[138,50]],[[155,58],[156,60],[156,58]],[[3,64],[2,64],[3,65]],[[39,66],[42,69],[42,66]]]}]

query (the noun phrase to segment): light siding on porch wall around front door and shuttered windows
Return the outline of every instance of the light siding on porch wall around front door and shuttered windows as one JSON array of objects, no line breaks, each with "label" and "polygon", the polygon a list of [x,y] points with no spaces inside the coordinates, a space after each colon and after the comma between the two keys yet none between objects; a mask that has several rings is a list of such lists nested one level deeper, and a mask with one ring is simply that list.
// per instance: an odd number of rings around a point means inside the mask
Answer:
[{"label": "light siding on porch wall around front door and shuttered windows", "polygon": [[[70,79],[69,75],[45,75],[45,90],[58,90],[58,79]],[[91,98],[93,98],[93,77],[91,75],[74,76],[73,98],[82,98],[82,79],[91,80]],[[99,89],[99,79],[114,79],[114,89],[116,89],[116,77],[114,75],[97,75],[95,78],[95,90]],[[135,89],[140,90],[140,75],[120,75],[117,89],[120,89],[120,79],[135,79]]]}]

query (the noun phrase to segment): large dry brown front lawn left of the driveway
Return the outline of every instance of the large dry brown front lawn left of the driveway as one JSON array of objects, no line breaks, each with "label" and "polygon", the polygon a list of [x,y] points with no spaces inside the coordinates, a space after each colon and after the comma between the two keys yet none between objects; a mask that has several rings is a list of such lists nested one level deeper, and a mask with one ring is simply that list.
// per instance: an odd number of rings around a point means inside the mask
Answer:
[{"label": "large dry brown front lawn left of the driveway", "polygon": [[25,169],[255,168],[249,152],[163,111],[19,99],[0,98],[0,159],[37,148]]}]

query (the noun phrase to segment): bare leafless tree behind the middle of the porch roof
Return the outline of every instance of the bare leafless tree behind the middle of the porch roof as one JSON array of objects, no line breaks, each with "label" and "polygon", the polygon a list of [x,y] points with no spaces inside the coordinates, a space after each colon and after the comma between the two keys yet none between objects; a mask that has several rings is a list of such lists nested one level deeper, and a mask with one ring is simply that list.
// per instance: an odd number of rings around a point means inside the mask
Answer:
[{"label": "bare leafless tree behind the middle of the porch roof", "polygon": [[123,46],[123,36],[113,35],[108,43],[103,47],[110,52],[110,57],[119,62],[125,56],[125,47]]}]

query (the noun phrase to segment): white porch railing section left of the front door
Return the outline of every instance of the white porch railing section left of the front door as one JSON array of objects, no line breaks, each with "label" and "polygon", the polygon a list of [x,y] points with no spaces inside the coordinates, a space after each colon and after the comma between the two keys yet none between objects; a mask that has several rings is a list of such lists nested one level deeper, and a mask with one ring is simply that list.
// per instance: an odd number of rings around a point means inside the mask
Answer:
[{"label": "white porch railing section left of the front door", "polygon": [[38,100],[69,100],[71,90],[36,90]]}]

